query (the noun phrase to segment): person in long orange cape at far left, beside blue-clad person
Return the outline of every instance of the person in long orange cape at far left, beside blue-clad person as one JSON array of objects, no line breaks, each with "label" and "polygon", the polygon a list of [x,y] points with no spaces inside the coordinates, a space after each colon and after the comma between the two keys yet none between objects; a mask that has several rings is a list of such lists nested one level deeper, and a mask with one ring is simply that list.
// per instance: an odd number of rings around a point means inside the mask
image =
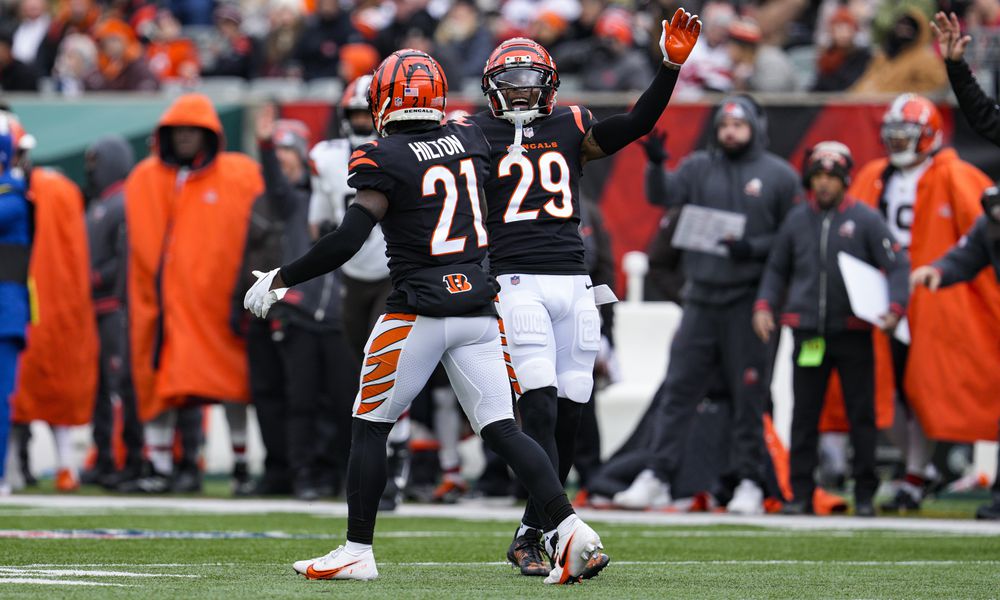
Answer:
[{"label": "person in long orange cape at far left, beside blue-clad person", "polygon": [[28,198],[35,208],[28,271],[35,314],[21,357],[12,420],[18,425],[19,446],[32,421],[52,427],[56,489],[70,492],[80,485],[71,428],[90,423],[97,392],[98,339],[83,194],[61,173],[31,169],[28,151],[34,138],[23,130],[17,137],[17,164],[30,173]]}]

